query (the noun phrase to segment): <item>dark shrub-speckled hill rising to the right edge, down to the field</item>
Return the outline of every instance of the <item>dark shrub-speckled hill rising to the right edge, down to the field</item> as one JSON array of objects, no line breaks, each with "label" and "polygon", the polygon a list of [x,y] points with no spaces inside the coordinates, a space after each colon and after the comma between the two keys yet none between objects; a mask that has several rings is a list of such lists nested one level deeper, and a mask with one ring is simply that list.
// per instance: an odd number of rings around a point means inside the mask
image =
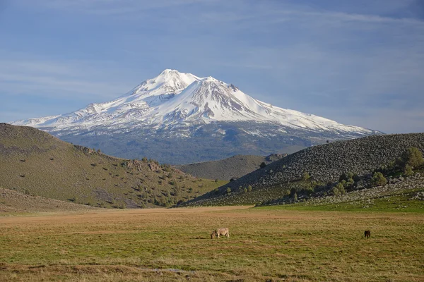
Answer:
[{"label": "dark shrub-speckled hill rising to the right edge, down to the field", "polygon": [[[343,194],[372,187],[371,176],[376,170],[385,171],[393,181],[402,182],[401,171],[387,171],[386,168],[394,166],[395,160],[409,147],[423,152],[424,133],[375,135],[310,147],[183,205],[278,204]],[[355,180],[346,178],[339,184],[341,175],[348,172]],[[336,185],[343,185],[343,191],[335,190]],[[413,182],[413,188],[422,187],[423,181]]]}]

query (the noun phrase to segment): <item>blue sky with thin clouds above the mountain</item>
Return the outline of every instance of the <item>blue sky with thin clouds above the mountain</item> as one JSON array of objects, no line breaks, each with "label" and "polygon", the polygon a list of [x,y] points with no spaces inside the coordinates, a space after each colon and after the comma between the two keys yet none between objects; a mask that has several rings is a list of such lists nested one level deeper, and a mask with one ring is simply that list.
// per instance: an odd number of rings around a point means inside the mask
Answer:
[{"label": "blue sky with thin clouds above the mountain", "polygon": [[284,109],[424,132],[423,0],[0,0],[0,42],[0,122],[174,68]]}]

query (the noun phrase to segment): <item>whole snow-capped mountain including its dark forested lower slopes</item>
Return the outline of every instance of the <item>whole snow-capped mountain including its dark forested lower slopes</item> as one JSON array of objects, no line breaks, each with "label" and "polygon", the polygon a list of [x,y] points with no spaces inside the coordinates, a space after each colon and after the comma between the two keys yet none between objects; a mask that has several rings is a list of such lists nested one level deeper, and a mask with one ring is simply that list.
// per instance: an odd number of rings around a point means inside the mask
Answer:
[{"label": "whole snow-capped mountain including its dark forested lower slopes", "polygon": [[[155,152],[160,149],[161,156],[163,152],[185,156],[176,152],[181,147],[177,142],[168,149],[163,146],[170,138],[184,140],[184,144],[201,142],[194,147],[211,155],[208,158],[198,152],[199,156],[194,157],[188,152],[185,159],[177,157],[180,161],[172,157],[159,158],[171,163],[216,159],[218,155],[228,157],[215,151],[226,152],[229,147],[234,147],[230,154],[268,154],[290,145],[305,147],[325,139],[378,133],[281,109],[249,97],[232,84],[169,69],[113,101],[90,104],[69,114],[30,118],[12,124],[40,128],[63,140],[100,147],[120,157],[158,158],[155,157],[158,153],[149,156],[149,148]],[[221,148],[208,148],[211,140],[216,145],[221,142]],[[276,146],[275,141],[283,143]],[[118,147],[112,149],[117,142]]]}]

